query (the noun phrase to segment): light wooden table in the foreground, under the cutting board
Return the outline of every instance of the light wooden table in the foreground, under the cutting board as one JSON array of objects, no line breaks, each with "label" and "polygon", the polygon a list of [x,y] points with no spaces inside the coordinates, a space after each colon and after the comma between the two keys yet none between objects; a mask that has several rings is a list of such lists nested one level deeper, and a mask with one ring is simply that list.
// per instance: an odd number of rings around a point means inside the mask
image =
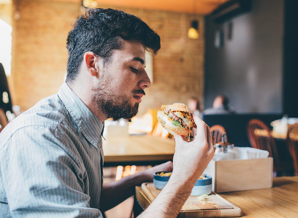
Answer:
[{"label": "light wooden table in the foreground, under the cutting board", "polygon": [[[135,199],[142,207],[149,205],[140,186]],[[247,218],[298,217],[298,176],[273,178],[273,187],[250,191],[220,193],[222,197],[242,210]],[[135,204],[135,210],[138,204]]]}]

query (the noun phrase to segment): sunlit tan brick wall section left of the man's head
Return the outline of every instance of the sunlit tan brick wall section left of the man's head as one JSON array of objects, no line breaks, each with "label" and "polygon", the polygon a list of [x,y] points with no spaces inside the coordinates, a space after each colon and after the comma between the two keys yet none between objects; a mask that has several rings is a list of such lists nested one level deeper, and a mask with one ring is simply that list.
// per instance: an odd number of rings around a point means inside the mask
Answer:
[{"label": "sunlit tan brick wall section left of the man's head", "polygon": [[66,38],[77,19],[79,3],[14,1],[19,19],[13,19],[11,77],[14,104],[22,110],[57,93],[66,73]]}]

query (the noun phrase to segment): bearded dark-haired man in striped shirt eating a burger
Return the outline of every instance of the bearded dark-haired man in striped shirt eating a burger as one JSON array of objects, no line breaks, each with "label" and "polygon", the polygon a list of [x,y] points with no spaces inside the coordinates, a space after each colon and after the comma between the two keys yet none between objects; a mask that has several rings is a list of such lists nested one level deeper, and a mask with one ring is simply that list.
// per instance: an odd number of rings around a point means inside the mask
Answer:
[{"label": "bearded dark-haired man in striped shirt eating a burger", "polygon": [[67,38],[67,77],[57,94],[42,99],[0,134],[1,217],[102,217],[170,171],[168,185],[140,217],[176,217],[214,152],[209,127],[197,116],[190,143],[175,136],[171,161],[102,184],[101,133],[108,118],[131,118],[144,89],[145,49],[156,53],[159,36],[134,15],[91,9]]}]

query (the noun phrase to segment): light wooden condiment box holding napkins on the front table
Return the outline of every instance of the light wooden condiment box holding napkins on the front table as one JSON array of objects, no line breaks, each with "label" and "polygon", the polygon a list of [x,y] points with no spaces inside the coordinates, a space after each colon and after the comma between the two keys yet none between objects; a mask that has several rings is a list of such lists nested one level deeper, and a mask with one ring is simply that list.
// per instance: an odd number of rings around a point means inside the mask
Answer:
[{"label": "light wooden condiment box holding napkins on the front table", "polygon": [[273,158],[211,160],[204,173],[212,177],[212,191],[244,191],[272,187]]}]

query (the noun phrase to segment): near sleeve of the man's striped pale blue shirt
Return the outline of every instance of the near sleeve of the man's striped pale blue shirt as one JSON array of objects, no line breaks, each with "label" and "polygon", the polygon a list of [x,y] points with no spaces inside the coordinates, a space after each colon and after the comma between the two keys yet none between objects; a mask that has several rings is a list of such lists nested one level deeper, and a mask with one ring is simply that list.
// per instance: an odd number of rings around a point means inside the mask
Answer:
[{"label": "near sleeve of the man's striped pale blue shirt", "polygon": [[13,217],[102,217],[89,207],[75,155],[48,127],[17,130],[0,150],[0,168]]}]

